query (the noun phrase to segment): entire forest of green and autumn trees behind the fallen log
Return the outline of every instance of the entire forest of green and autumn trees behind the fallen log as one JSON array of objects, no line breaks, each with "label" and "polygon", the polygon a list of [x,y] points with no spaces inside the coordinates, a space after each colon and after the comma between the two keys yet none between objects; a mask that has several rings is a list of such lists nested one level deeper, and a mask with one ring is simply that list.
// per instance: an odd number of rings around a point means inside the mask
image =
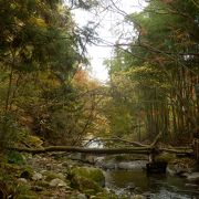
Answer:
[{"label": "entire forest of green and autumn trees behind the fallen log", "polygon": [[20,161],[13,147],[129,147],[159,133],[164,145],[187,147],[199,138],[199,1],[146,2],[127,14],[112,1],[132,38],[113,44],[102,84],[87,70],[87,45],[102,42],[96,24],[80,28],[72,14],[97,11],[101,0],[0,0],[1,163]]}]

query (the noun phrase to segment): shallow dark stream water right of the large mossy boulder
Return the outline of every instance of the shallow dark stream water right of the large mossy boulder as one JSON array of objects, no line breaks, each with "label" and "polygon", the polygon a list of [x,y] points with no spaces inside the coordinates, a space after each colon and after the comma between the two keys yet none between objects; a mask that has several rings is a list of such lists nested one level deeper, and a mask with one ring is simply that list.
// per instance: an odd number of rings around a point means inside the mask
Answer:
[{"label": "shallow dark stream water right of the large mossy boulder", "polygon": [[117,195],[143,195],[148,199],[199,199],[197,187],[169,175],[148,176],[144,170],[106,171],[106,186]]}]

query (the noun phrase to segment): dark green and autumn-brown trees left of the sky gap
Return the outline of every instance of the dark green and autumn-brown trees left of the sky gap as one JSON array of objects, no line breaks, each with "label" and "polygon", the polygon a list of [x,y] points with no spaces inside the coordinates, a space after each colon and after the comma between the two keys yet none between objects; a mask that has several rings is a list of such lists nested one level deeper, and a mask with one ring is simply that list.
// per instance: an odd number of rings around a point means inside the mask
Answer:
[{"label": "dark green and autumn-brown trees left of the sky gap", "polygon": [[[95,1],[75,3],[84,9],[96,6]],[[62,142],[65,137],[65,144],[71,143],[83,128],[80,122],[72,133],[83,114],[71,117],[67,113],[71,107],[74,112],[82,106],[81,100],[74,102],[78,93],[71,81],[78,64],[86,63],[83,42],[94,36],[92,30],[85,27],[77,32],[70,9],[59,0],[0,0],[0,7],[2,148],[18,139],[33,146],[36,142],[25,137],[25,130],[49,140]]]}]

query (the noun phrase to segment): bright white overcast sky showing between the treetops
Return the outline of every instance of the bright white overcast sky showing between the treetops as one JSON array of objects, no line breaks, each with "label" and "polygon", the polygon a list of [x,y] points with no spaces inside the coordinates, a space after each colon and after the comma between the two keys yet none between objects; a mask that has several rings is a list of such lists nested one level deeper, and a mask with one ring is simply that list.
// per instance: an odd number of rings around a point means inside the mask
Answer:
[{"label": "bright white overcast sky showing between the treetops", "polygon": [[[111,4],[111,1],[106,1],[104,7]],[[114,2],[116,2],[116,6],[126,13],[138,12],[144,7],[144,0],[114,0]],[[114,7],[112,8],[114,9]],[[130,38],[133,35],[133,28],[132,25],[122,23],[124,21],[124,15],[119,14],[116,9],[113,11],[113,9],[112,11],[103,11],[103,9],[98,10],[102,11],[98,15],[96,15],[95,11],[87,12],[77,9],[73,11],[73,14],[80,27],[85,25],[88,21],[100,22],[100,25],[96,29],[98,36],[108,43],[114,43],[118,39],[121,32],[130,32],[125,35],[125,38]],[[103,43],[100,44],[103,45]],[[92,66],[91,76],[101,82],[106,82],[108,80],[108,74],[107,69],[103,65],[103,61],[112,57],[113,48],[87,45],[87,51]]]}]

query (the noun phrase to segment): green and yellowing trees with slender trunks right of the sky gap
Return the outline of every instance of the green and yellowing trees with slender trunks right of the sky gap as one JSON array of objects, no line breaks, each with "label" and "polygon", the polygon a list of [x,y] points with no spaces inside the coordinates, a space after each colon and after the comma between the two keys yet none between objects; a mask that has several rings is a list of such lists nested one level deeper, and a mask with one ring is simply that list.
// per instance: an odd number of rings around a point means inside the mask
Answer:
[{"label": "green and yellowing trees with slender trunks right of the sky gap", "polygon": [[191,92],[199,75],[197,12],[191,1],[153,0],[128,15],[137,35],[105,63],[112,81],[105,112],[112,134],[130,130],[153,139],[163,130],[166,142],[179,135],[191,142],[198,129],[198,102]]}]

